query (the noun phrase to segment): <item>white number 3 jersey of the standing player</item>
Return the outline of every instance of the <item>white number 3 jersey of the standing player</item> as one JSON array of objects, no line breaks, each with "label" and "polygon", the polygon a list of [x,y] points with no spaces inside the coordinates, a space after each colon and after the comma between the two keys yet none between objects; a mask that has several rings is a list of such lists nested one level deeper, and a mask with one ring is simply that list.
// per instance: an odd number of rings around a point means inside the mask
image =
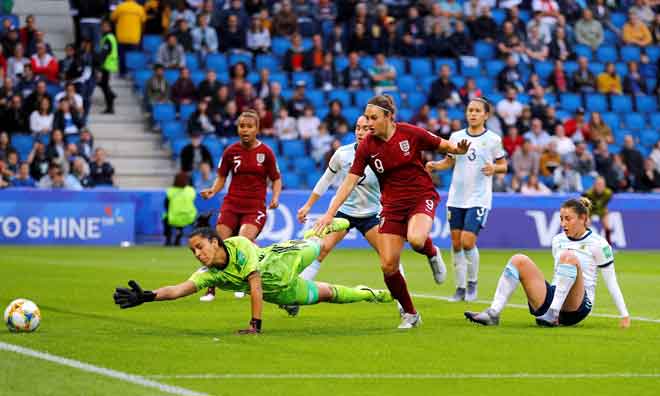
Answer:
[{"label": "white number 3 jersey of the standing player", "polygon": [[471,135],[466,129],[456,131],[449,137],[454,145],[463,139],[470,142],[468,152],[465,155],[449,154],[455,162],[447,206],[490,209],[493,201],[493,176],[484,175],[481,169],[506,156],[502,139],[489,130]]}]

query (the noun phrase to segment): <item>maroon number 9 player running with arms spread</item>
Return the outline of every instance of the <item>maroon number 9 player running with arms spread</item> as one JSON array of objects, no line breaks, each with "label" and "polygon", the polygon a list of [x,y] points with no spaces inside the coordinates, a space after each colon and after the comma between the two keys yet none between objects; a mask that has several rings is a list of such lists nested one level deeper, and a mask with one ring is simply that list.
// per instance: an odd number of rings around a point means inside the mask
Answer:
[{"label": "maroon number 9 player running with arms spread", "polygon": [[447,275],[440,250],[429,238],[440,197],[424,169],[421,152],[465,154],[470,143],[464,140],[454,145],[414,125],[394,122],[395,113],[390,96],[378,95],[369,100],[364,116],[370,134],[358,146],[349,174],[314,230],[322,232],[331,224],[369,165],[378,178],[383,205],[378,229],[381,269],[385,284],[404,309],[399,328],[410,329],[421,324],[421,316],[399,271],[399,257],[406,239],[415,251],[428,258],[437,283],[442,283]]}]

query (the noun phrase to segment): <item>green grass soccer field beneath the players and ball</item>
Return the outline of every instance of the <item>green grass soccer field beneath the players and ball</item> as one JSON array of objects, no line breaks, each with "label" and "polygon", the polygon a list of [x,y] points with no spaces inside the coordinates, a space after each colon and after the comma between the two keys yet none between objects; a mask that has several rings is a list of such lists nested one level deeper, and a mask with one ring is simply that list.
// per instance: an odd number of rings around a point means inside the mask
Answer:
[{"label": "green grass soccer field beneath the players and ball", "polygon": [[[481,252],[482,300],[492,297],[512,253]],[[550,279],[550,253],[529,255]],[[250,302],[230,293],[213,303],[197,295],[130,310],[113,304],[114,287],[129,279],[147,289],[187,279],[197,268],[187,249],[3,246],[0,304],[32,299],[42,324],[32,334],[0,331],[0,394],[660,394],[660,254],[616,255],[633,316],[628,330],[607,317],[616,309],[602,279],[595,314],[577,327],[538,328],[517,305],[499,327],[482,328],[463,311],[482,310],[484,301],[443,300],[453,292],[451,268],[437,286],[424,258],[406,251],[402,262],[422,313],[419,329],[396,329],[395,304],[320,304],[297,318],[266,304],[264,333],[238,336]],[[333,252],[318,279],[384,287],[367,250]],[[511,302],[524,304],[521,289]],[[12,345],[49,355],[10,352]]]}]

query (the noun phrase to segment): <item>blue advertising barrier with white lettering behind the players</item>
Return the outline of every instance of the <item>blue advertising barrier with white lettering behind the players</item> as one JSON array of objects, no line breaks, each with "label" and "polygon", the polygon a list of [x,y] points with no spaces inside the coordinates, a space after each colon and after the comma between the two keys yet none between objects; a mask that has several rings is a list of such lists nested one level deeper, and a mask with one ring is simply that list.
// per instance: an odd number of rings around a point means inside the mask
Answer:
[{"label": "blue advertising barrier with white lettering behind the players", "polygon": [[[308,194],[307,191],[282,193],[280,207],[268,211],[268,219],[259,237],[261,245],[302,236],[304,228],[298,224],[296,212],[304,204]],[[431,237],[439,246],[447,248],[450,245],[450,232],[444,207],[446,193],[441,193],[441,196],[443,203],[436,213]],[[200,212],[217,210],[222,197],[223,194],[218,194],[208,201],[198,198],[197,208]],[[331,197],[329,192],[316,203],[306,226],[325,211]],[[486,228],[480,234],[479,246],[511,249],[549,247],[552,237],[561,232],[559,206],[568,197],[494,194],[493,210],[489,213]],[[3,190],[0,191],[0,244],[112,245],[123,241],[160,242],[164,199],[165,193],[156,190]],[[609,209],[614,246],[660,249],[660,238],[657,237],[660,194],[619,194],[614,197]],[[32,223],[30,219],[33,219]],[[110,219],[115,220],[112,222]],[[121,219],[121,222],[118,219]],[[57,226],[53,225],[56,220],[59,222]],[[62,225],[63,221],[67,224]],[[88,223],[89,221],[91,223]],[[105,226],[96,227],[97,221]],[[16,234],[17,224],[25,235],[19,237]],[[86,227],[84,231],[82,227]],[[593,227],[599,232],[602,231],[596,219]],[[58,236],[55,234],[56,228],[59,230]],[[85,234],[90,228],[93,237]],[[45,234],[44,230],[48,233]],[[342,246],[368,247],[355,230],[347,235]]]}]

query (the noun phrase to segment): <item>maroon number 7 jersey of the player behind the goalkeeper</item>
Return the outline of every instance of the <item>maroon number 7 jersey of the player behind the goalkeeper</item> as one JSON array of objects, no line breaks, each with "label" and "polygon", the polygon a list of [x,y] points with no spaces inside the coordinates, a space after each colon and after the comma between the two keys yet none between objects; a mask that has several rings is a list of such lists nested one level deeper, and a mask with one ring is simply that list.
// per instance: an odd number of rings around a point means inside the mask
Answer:
[{"label": "maroon number 7 jersey of the player behind the goalkeeper", "polygon": [[223,206],[238,212],[265,210],[266,179],[280,178],[270,147],[263,143],[249,150],[240,143],[227,147],[218,164],[218,175],[227,177],[229,172],[232,179]]}]

